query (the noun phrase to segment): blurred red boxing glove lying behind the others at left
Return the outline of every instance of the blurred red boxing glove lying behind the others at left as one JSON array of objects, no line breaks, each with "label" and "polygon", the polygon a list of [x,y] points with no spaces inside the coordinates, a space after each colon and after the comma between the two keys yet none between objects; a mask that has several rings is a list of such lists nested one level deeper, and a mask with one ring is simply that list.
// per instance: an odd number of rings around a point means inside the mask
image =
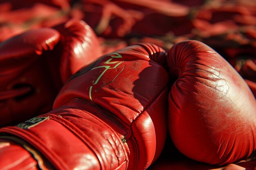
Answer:
[{"label": "blurred red boxing glove lying behind the others at left", "polygon": [[85,22],[28,31],[0,44],[0,126],[52,110],[63,83],[101,56]]}]

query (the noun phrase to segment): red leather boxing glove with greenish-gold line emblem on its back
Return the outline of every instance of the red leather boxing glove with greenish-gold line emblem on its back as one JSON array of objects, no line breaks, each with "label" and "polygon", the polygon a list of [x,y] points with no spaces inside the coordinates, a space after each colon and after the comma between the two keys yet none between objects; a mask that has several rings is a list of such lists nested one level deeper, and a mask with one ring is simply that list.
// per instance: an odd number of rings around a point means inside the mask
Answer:
[{"label": "red leather boxing glove with greenish-gold line emblem on its back", "polygon": [[0,129],[0,138],[29,146],[59,170],[146,169],[166,138],[165,59],[153,44],[104,55],[70,78],[54,110]]}]

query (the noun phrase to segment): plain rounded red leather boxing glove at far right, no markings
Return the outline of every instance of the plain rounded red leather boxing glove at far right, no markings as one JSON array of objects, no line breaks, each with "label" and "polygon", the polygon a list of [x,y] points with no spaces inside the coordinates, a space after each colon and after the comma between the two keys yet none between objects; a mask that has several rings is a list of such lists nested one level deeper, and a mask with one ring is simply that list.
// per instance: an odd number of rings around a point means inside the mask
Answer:
[{"label": "plain rounded red leather boxing glove at far right, no markings", "polygon": [[256,100],[242,77],[216,51],[194,40],[167,57],[168,126],[186,156],[210,164],[234,163],[256,148]]}]

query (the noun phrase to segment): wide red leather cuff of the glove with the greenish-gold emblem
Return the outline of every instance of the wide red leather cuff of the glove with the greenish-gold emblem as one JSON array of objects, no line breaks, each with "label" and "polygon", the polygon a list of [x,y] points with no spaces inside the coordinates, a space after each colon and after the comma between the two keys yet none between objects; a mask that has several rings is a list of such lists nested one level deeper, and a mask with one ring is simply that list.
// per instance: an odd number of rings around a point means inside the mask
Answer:
[{"label": "wide red leather cuff of the glove with the greenish-gold emblem", "polygon": [[17,126],[2,128],[0,133],[27,141],[56,169],[74,169],[88,162],[91,162],[88,169],[128,166],[119,135],[92,113],[77,108],[57,108]]}]

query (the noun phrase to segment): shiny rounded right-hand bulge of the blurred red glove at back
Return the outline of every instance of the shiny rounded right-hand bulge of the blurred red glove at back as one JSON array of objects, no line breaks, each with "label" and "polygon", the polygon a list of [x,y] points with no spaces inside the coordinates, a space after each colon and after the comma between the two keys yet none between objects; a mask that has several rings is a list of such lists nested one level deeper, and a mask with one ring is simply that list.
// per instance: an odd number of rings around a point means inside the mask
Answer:
[{"label": "shiny rounded right-hand bulge of the blurred red glove at back", "polygon": [[62,82],[83,66],[88,66],[101,57],[99,41],[92,28],[82,20],[70,20],[55,26],[61,33],[60,72]]}]

